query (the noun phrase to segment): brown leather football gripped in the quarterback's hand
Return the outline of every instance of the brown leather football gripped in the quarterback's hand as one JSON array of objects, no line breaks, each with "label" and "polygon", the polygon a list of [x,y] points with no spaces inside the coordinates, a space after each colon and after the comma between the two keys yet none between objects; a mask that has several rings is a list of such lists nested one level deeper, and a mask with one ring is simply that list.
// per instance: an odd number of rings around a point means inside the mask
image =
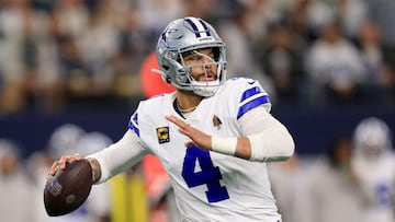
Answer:
[{"label": "brown leather football gripped in the quarterback's hand", "polygon": [[92,168],[87,160],[68,162],[65,170],[50,176],[44,188],[44,206],[50,217],[77,210],[92,188]]}]

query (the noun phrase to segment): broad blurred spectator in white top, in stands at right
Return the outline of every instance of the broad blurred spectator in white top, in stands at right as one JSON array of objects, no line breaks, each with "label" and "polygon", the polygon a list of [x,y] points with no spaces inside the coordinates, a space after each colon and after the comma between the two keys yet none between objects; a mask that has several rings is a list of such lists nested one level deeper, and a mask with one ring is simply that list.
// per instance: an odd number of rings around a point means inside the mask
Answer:
[{"label": "broad blurred spectator in white top, in stands at right", "polygon": [[359,51],[345,38],[337,22],[323,26],[305,59],[314,103],[324,106],[357,105],[363,100],[365,71]]}]

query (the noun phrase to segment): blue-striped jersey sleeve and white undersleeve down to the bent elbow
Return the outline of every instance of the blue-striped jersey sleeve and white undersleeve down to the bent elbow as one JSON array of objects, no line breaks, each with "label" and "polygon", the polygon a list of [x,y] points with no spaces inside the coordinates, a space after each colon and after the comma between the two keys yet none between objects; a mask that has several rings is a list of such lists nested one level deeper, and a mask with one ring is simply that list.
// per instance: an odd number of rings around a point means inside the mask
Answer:
[{"label": "blue-striped jersey sleeve and white undersleeve down to the bent elbow", "polygon": [[238,83],[237,124],[251,144],[250,161],[284,161],[294,152],[294,141],[286,127],[270,114],[268,93],[258,81]]}]

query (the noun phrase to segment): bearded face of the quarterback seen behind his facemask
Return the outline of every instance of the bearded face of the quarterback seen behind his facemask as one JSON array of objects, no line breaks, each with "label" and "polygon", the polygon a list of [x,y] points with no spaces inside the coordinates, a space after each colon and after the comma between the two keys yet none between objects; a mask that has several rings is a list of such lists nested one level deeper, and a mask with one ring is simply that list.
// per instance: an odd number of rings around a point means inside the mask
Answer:
[{"label": "bearded face of the quarterback seen behind his facemask", "polygon": [[199,82],[217,79],[217,65],[212,48],[198,49],[188,52],[183,58],[184,65],[192,67],[191,75]]}]

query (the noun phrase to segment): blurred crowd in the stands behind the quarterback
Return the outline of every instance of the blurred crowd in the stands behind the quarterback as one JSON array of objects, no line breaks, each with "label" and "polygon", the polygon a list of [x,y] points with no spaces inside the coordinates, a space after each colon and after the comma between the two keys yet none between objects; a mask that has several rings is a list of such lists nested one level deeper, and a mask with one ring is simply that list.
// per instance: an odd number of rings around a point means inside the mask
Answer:
[{"label": "blurred crowd in the stands behind the quarterback", "polygon": [[159,32],[184,15],[211,22],[228,77],[261,80],[279,109],[394,106],[394,11],[392,0],[3,0],[0,112],[127,104]]}]

